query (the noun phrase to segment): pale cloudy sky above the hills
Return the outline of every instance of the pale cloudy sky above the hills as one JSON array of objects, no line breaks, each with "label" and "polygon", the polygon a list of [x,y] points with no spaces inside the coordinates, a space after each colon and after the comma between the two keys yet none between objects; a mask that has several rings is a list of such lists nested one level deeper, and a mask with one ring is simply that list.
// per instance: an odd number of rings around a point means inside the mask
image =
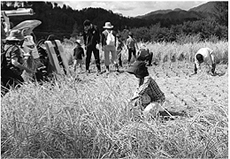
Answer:
[{"label": "pale cloudy sky above the hills", "polygon": [[72,9],[81,10],[88,7],[100,7],[106,10],[112,10],[113,13],[120,13],[126,17],[135,17],[144,15],[156,10],[180,8],[189,10],[190,8],[207,3],[208,1],[53,1],[60,6],[63,4]]}]

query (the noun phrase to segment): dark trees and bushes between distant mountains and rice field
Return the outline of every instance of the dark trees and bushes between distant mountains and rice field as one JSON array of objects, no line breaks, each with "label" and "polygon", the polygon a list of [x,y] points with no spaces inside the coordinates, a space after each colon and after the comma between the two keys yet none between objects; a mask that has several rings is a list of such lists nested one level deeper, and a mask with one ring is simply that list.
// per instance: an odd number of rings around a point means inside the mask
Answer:
[{"label": "dark trees and bushes between distant mountains and rice field", "polygon": [[[17,5],[16,5],[17,4]],[[14,25],[26,19],[41,20],[42,24],[34,32],[38,39],[50,34],[62,39],[79,36],[83,31],[83,22],[89,19],[102,31],[106,21],[114,25],[114,29],[125,39],[129,31],[138,41],[151,42],[183,42],[186,36],[197,37],[197,40],[228,40],[228,3],[216,4],[216,16],[204,19],[187,19],[170,22],[167,20],[151,20],[124,17],[102,8],[84,8],[73,10],[70,6],[58,6],[57,3],[42,1],[2,1],[2,10],[13,10],[20,7],[32,8],[32,16],[11,17]]]}]

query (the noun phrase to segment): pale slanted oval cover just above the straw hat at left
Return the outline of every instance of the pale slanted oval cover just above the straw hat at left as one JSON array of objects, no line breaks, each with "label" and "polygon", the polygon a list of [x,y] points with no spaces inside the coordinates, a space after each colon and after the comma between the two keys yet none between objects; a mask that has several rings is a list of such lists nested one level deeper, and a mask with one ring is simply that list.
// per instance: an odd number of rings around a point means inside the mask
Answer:
[{"label": "pale slanted oval cover just above the straw hat at left", "polygon": [[39,26],[42,22],[40,20],[25,20],[18,25],[16,25],[12,30],[24,30],[24,29],[31,29],[33,30],[37,26]]}]

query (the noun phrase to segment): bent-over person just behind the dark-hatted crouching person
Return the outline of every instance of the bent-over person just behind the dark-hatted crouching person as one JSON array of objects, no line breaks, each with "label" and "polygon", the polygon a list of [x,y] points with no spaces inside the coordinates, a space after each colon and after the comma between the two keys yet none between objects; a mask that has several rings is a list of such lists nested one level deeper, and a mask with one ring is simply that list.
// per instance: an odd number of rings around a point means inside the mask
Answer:
[{"label": "bent-over person just behind the dark-hatted crouching person", "polygon": [[148,62],[147,66],[152,66],[152,58],[153,58],[153,53],[149,52],[149,49],[146,47],[146,45],[142,43],[137,54],[137,60],[147,61]]}]

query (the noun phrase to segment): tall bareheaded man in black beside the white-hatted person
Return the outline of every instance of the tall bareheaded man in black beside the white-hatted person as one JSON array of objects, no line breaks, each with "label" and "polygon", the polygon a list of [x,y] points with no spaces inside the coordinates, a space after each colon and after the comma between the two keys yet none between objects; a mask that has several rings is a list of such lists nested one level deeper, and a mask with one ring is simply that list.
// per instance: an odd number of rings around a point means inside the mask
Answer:
[{"label": "tall bareheaded man in black beside the white-hatted person", "polygon": [[84,23],[83,39],[86,49],[86,72],[90,73],[89,65],[92,52],[94,53],[95,62],[97,66],[97,73],[101,73],[100,56],[99,56],[99,43],[100,34],[96,25],[93,25],[91,21],[85,20]]}]

